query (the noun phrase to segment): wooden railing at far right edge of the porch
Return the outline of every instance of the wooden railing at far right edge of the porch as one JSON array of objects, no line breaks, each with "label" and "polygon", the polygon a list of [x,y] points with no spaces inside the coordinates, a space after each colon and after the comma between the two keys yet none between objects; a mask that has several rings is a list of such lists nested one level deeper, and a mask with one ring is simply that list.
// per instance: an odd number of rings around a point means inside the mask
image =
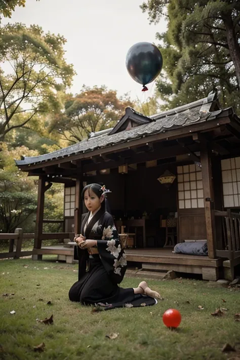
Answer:
[{"label": "wooden railing at far right edge of the porch", "polygon": [[240,257],[240,214],[215,210],[215,216],[222,218],[222,246],[216,250],[221,258],[233,260]]}]

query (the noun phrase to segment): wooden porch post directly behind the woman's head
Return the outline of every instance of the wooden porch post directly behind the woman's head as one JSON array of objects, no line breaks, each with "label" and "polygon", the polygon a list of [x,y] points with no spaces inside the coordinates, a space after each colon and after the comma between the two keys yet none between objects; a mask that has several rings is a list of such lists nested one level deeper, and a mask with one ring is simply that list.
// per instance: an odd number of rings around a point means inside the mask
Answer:
[{"label": "wooden porch post directly behind the woman's head", "polygon": [[75,187],[75,211],[74,211],[74,233],[80,234],[82,222],[82,166],[81,163],[77,164],[77,178]]}]

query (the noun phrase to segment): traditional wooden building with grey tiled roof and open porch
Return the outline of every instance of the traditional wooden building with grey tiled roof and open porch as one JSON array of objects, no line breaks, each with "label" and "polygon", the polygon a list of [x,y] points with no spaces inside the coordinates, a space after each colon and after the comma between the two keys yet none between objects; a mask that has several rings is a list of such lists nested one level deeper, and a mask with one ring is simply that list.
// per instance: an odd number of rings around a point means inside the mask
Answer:
[{"label": "traditional wooden building with grey tiled roof and open porch", "polygon": [[[232,278],[240,263],[240,119],[220,107],[217,93],[149,117],[127,108],[114,128],[16,165],[39,177],[34,258],[53,253],[43,239],[79,233],[81,189],[100,182],[112,191],[116,225],[133,234],[129,261],[213,280]],[[53,182],[65,184],[58,235],[43,233],[44,193]],[[176,243],[197,240],[207,241],[208,256],[172,253]]]}]

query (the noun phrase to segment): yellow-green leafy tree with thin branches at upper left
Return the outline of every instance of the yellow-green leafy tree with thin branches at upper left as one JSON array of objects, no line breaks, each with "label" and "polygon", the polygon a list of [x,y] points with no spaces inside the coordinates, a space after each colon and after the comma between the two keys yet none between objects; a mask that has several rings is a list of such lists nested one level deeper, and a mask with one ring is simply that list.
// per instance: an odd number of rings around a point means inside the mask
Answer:
[{"label": "yellow-green leafy tree with thin branches at upper left", "polygon": [[[0,141],[14,129],[44,134],[43,114],[59,111],[74,74],[64,37],[16,23],[0,32]],[[5,70],[5,71],[4,71]]]}]

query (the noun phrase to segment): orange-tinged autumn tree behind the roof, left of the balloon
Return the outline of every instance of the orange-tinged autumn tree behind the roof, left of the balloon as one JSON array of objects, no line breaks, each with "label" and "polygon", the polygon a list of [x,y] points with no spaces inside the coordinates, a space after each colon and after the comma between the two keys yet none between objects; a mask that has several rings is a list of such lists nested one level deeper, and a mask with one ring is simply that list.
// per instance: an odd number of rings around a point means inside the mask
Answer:
[{"label": "orange-tinged autumn tree behind the roof, left of the balloon", "polygon": [[76,143],[115,125],[127,106],[132,106],[127,97],[118,99],[116,92],[105,86],[84,86],[81,93],[68,97],[65,112],[56,114],[49,131],[58,131],[64,139]]}]

